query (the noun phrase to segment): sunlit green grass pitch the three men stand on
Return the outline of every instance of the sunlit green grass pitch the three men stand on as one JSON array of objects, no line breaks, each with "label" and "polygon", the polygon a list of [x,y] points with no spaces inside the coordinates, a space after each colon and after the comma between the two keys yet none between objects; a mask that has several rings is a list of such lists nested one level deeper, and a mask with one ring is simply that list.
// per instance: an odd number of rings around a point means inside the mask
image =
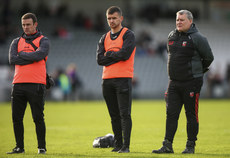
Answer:
[{"label": "sunlit green grass pitch the three men stand on", "polygon": [[133,101],[131,153],[112,153],[111,148],[92,147],[98,136],[112,133],[104,101],[47,102],[46,155],[37,154],[35,126],[29,106],[24,117],[25,154],[7,155],[15,146],[10,103],[0,104],[0,158],[157,158],[157,157],[230,157],[230,100],[202,100],[199,107],[200,131],[195,155],[182,155],[186,143],[186,117],[181,112],[174,139],[175,154],[156,155],[165,134],[163,100]]}]

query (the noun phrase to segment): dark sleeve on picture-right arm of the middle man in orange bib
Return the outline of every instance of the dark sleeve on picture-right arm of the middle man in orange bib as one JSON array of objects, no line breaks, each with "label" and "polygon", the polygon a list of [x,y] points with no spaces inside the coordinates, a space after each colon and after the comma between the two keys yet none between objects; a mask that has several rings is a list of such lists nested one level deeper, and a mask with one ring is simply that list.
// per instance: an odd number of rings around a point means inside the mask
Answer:
[{"label": "dark sleeve on picture-right arm of the middle man in orange bib", "polygon": [[106,57],[111,58],[114,61],[128,60],[135,48],[135,36],[130,30],[126,31],[123,36],[123,46],[121,50],[117,52],[107,52]]}]

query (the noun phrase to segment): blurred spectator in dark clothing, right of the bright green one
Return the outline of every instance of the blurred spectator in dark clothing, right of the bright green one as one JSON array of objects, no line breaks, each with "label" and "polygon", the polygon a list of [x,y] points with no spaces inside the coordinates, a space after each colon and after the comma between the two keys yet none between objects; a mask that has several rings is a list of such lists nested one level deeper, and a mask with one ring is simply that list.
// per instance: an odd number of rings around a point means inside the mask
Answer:
[{"label": "blurred spectator in dark clothing, right of the bright green one", "polygon": [[71,84],[71,93],[69,98],[71,100],[78,100],[79,99],[79,91],[82,87],[82,82],[80,80],[80,77],[77,73],[77,66],[74,63],[71,63],[68,65],[66,69],[66,74],[70,80]]}]

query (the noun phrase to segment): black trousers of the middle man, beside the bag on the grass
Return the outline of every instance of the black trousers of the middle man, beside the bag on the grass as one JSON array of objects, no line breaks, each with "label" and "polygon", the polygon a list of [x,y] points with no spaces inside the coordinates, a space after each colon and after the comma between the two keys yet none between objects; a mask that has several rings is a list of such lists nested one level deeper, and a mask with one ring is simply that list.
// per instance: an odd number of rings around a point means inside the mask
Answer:
[{"label": "black trousers of the middle man, beside the bag on the grass", "polygon": [[105,79],[102,91],[111,117],[115,146],[129,147],[132,129],[132,79]]}]

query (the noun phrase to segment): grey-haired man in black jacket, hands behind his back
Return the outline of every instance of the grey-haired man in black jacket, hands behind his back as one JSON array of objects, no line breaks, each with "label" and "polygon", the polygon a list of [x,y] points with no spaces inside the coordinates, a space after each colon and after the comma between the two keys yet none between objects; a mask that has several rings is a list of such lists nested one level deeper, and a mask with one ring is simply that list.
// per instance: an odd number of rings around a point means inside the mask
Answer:
[{"label": "grey-haired man in black jacket, hands behind his back", "polygon": [[193,154],[199,129],[198,103],[203,75],[214,57],[207,39],[193,23],[192,13],[180,10],[176,14],[176,29],[168,36],[169,86],[166,99],[166,133],[163,146],[152,153],[173,153],[173,139],[177,130],[181,108],[187,118],[187,143],[182,152]]}]

